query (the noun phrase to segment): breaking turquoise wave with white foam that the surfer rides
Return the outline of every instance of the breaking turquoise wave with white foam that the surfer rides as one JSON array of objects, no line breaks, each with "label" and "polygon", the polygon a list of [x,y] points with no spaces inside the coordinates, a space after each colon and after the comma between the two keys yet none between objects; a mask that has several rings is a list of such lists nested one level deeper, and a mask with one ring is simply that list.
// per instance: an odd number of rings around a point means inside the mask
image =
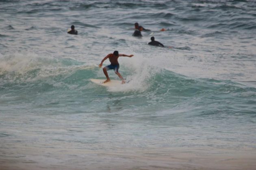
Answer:
[{"label": "breaking turquoise wave with white foam that the surfer rides", "polygon": [[[128,113],[137,108],[141,113],[156,113],[170,108],[179,110],[185,106],[192,117],[212,114],[217,117],[224,114],[227,119],[234,114],[255,116],[255,87],[230,80],[186,77],[156,67],[155,63],[151,65],[152,62],[147,63],[146,60],[136,59],[137,65],[126,60],[128,63],[121,70],[129,82],[106,88],[89,80],[104,79],[102,70],[95,64],[16,53],[2,58],[2,100],[9,104],[16,100],[19,102],[22,96],[20,104],[27,103],[32,110],[44,105],[41,112],[44,109],[48,112],[49,104],[53,104],[56,107],[65,106],[69,113],[76,105],[87,105],[85,110],[79,111],[97,113],[106,111],[106,105],[115,110],[115,103],[119,101],[121,108]],[[117,79],[113,72],[109,74],[111,79]],[[6,96],[8,100],[4,100]],[[233,101],[234,98],[236,100]],[[246,107],[242,113],[238,109],[240,106]],[[171,112],[175,113],[176,109]]]}]

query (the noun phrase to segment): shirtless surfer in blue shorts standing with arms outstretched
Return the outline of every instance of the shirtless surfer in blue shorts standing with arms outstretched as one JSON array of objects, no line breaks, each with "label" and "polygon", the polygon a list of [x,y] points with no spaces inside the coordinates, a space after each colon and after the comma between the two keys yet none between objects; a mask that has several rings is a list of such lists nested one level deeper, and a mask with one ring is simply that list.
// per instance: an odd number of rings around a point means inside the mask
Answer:
[{"label": "shirtless surfer in blue shorts standing with arms outstretched", "polygon": [[104,83],[110,81],[109,77],[108,77],[108,72],[107,70],[114,70],[115,71],[115,74],[118,75],[118,77],[122,80],[122,84],[125,83],[125,80],[124,78],[121,76],[121,74],[118,72],[118,69],[119,69],[119,63],[118,63],[118,57],[132,57],[133,55],[125,55],[125,54],[119,54],[118,51],[114,51],[113,54],[108,54],[106,57],[104,57],[104,59],[101,61],[101,63],[99,64],[99,67],[101,68],[102,67],[102,64],[103,62],[106,60],[106,59],[109,59],[110,61],[110,65],[106,66],[103,68],[103,72],[106,76],[106,81],[104,81]]}]

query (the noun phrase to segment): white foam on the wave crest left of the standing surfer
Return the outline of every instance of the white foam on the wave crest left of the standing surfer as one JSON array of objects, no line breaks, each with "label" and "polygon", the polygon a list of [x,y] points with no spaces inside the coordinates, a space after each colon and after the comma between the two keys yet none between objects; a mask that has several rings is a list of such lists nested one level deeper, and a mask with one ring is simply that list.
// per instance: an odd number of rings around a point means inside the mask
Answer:
[{"label": "white foam on the wave crest left of the standing surfer", "polygon": [[[52,56],[39,56],[35,53],[12,53],[0,55],[0,74],[10,73],[13,79],[19,77],[22,81],[36,81],[60,74],[70,75],[76,70],[94,68],[94,64],[65,66],[59,59]],[[27,74],[30,71],[36,75]],[[58,86],[58,85],[57,85]]]}]

